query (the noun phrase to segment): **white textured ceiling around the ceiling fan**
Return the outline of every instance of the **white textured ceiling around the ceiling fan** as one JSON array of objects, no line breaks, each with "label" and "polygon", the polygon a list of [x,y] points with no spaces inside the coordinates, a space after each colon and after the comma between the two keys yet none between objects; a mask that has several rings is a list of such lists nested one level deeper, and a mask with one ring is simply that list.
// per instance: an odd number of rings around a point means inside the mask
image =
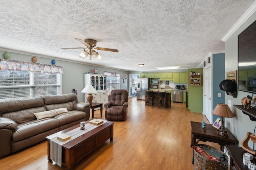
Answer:
[{"label": "white textured ceiling around the ceiling fan", "polygon": [[[122,69],[195,68],[255,0],[0,0],[0,47]],[[95,39],[102,59],[79,58]],[[144,67],[139,67],[144,63]]]}]

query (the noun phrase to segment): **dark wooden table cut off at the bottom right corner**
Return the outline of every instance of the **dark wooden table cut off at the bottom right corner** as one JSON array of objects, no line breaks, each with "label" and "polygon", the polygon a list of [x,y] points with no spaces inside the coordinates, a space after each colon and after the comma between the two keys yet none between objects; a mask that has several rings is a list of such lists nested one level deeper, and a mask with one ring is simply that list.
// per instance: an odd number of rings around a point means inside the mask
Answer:
[{"label": "dark wooden table cut off at the bottom right corner", "polygon": [[[243,154],[247,152],[242,149],[242,147],[228,145],[226,146],[230,154],[230,170],[248,170],[248,166],[243,163]],[[250,160],[252,163],[256,164],[256,160]],[[235,169],[236,168],[236,169]]]}]

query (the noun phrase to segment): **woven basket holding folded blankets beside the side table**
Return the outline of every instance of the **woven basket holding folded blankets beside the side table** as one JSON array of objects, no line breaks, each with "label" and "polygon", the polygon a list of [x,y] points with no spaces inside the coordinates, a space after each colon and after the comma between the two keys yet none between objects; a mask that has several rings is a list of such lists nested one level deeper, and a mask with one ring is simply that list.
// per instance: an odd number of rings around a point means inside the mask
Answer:
[{"label": "woven basket holding folded blankets beside the side table", "polygon": [[[198,147],[205,146],[205,147],[208,147],[209,149],[212,149],[224,154],[224,152],[222,152],[221,150],[211,147],[209,145],[197,144],[195,146],[198,146]],[[226,161],[217,162],[200,155],[194,148],[193,150],[194,150],[194,170],[228,170],[228,156],[226,154],[224,154],[226,156]]]}]

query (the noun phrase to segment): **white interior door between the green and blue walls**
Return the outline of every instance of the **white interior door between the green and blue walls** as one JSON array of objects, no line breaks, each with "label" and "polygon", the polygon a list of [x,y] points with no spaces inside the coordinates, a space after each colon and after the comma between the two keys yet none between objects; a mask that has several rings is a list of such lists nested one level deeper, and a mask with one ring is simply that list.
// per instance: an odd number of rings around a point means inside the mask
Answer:
[{"label": "white interior door between the green and blue walls", "polygon": [[212,67],[204,69],[204,115],[212,124]]}]

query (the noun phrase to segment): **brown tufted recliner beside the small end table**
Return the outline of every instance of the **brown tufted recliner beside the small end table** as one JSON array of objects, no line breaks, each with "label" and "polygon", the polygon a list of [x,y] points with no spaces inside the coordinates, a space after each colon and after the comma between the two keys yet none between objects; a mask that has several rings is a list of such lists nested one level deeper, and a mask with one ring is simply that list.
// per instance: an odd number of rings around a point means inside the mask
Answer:
[{"label": "brown tufted recliner beside the small end table", "polygon": [[106,120],[125,121],[128,107],[128,91],[124,89],[112,90],[110,101],[104,106]]}]

